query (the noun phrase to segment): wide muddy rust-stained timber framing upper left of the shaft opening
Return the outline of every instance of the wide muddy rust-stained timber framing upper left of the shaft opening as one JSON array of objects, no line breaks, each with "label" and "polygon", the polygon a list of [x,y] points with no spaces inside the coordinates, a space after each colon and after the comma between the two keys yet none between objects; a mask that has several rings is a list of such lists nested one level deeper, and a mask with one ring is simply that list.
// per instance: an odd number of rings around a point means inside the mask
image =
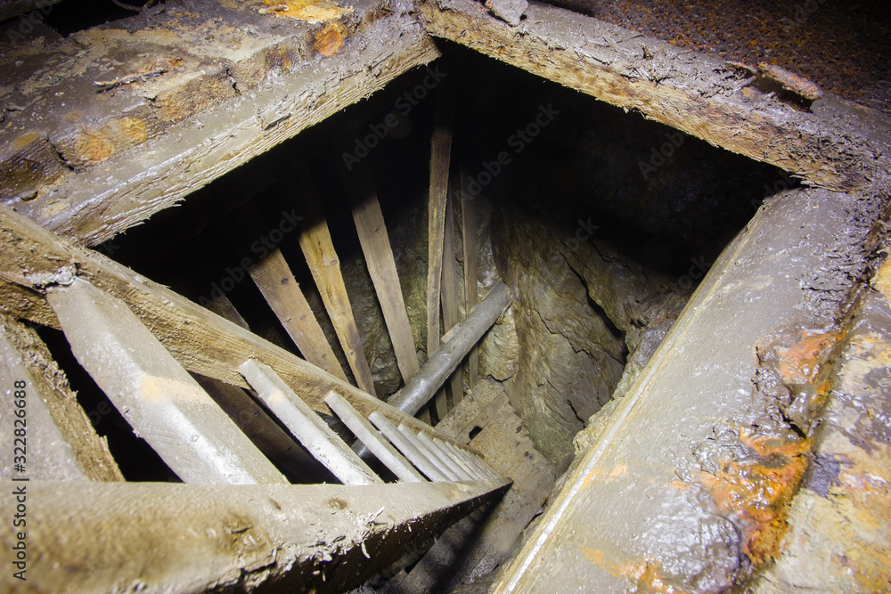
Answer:
[{"label": "wide muddy rust-stained timber framing upper left of the shaft opening", "polygon": [[257,8],[174,0],[14,41],[8,21],[0,200],[96,245],[439,55],[405,0]]}]

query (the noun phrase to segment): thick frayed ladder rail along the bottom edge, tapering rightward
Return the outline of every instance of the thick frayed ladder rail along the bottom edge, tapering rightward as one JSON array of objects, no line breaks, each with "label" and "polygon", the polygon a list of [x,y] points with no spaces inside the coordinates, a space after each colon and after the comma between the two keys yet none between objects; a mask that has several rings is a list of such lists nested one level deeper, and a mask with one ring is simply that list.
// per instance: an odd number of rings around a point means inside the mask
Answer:
[{"label": "thick frayed ladder rail along the bottom edge, tapering rightward", "polygon": [[[28,585],[44,592],[343,592],[507,484],[204,486],[32,481]],[[15,509],[12,489],[2,509]],[[0,528],[10,550],[12,523]],[[0,590],[20,581],[5,571]]]}]

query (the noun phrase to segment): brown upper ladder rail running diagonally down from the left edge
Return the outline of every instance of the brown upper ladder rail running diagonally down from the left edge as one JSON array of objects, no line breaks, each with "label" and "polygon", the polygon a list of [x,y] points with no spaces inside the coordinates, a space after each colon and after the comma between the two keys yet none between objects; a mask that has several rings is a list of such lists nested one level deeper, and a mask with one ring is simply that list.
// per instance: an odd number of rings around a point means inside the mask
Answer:
[{"label": "brown upper ladder rail running diagonally down from the left edge", "polygon": [[[32,291],[44,291],[49,285],[71,281],[75,273],[127,303],[186,370],[233,386],[249,387],[238,367],[254,358],[276,370],[290,386],[300,387],[300,395],[307,404],[323,415],[331,415],[324,398],[334,390],[366,417],[381,411],[393,422],[419,431],[429,428],[167,287],[102,254],[71,245],[12,208],[0,205],[0,279]],[[52,309],[46,309],[54,315]],[[20,315],[29,319],[31,313],[33,310],[25,310]]]}]

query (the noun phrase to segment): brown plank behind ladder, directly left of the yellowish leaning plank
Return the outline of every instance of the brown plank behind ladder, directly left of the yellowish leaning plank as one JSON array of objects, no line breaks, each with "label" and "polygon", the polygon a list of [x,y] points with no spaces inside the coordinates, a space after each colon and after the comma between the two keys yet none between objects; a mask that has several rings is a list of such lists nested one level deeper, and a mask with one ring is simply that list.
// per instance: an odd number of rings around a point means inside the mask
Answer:
[{"label": "brown plank behind ladder, directly left of the yellowish leaning plank", "polygon": [[[295,219],[287,221],[293,230],[296,219],[300,217],[294,213],[285,214]],[[219,227],[239,256],[253,254],[251,246],[257,247],[255,240],[260,237],[266,238],[269,232],[262,217],[250,205],[240,208],[233,216],[221,222]],[[272,308],[275,317],[282,322],[282,327],[300,349],[304,359],[346,381],[347,374],[331,350],[328,338],[325,337],[319,321],[315,319],[315,313],[309,307],[307,297],[304,296],[297,279],[294,278],[294,273],[291,273],[290,266],[282,256],[282,250],[277,247],[269,249],[265,245],[260,248],[262,250],[260,253],[265,253],[266,256],[258,261],[247,256],[245,263],[249,265],[242,265],[241,268],[248,270],[251,280],[257,285],[257,289],[260,289],[266,303]],[[224,317],[232,319],[228,315]]]}]

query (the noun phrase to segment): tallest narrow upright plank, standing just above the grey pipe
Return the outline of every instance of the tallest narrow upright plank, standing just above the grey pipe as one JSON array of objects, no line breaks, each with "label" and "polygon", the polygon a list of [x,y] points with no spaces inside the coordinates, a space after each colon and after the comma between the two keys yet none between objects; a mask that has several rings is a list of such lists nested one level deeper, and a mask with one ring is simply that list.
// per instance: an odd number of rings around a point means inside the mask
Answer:
[{"label": "tallest narrow upright plank, standing just above the grey pipe", "polygon": [[[452,152],[452,102],[447,85],[437,92],[436,123],[430,142],[427,259],[427,358],[439,346],[439,294],[442,285],[443,241],[446,231],[449,159]],[[433,404],[439,419],[446,416],[445,398]]]}]

